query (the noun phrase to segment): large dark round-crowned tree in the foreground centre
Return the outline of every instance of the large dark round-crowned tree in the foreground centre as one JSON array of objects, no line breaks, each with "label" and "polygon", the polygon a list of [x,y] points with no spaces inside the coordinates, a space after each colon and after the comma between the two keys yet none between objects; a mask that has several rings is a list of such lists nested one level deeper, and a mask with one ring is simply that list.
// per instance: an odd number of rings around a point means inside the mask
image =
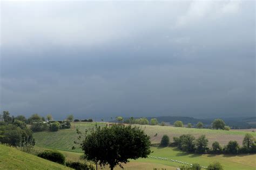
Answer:
[{"label": "large dark round-crowned tree in the foreground centre", "polygon": [[146,158],[150,144],[150,137],[139,127],[112,125],[87,131],[81,146],[87,160],[109,165],[112,170],[117,165],[122,167],[121,163],[126,164],[128,159]]}]

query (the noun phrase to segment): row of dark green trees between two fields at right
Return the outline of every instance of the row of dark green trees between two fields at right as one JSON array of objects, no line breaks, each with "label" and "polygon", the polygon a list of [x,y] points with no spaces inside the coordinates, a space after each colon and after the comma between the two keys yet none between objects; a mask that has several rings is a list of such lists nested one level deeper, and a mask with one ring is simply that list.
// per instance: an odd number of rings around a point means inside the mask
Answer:
[{"label": "row of dark green trees between two fields at right", "polygon": [[[166,147],[169,145],[169,137],[163,135],[160,146]],[[215,141],[212,144],[212,148],[208,148],[208,139],[205,135],[200,135],[196,139],[191,134],[183,134],[180,137],[173,137],[171,146],[177,146],[179,149],[185,152],[196,152],[196,153],[227,153],[227,154],[238,154],[238,153],[256,153],[256,140],[252,134],[245,134],[242,146],[239,146],[237,141],[229,141],[223,148],[219,142]]]}]

